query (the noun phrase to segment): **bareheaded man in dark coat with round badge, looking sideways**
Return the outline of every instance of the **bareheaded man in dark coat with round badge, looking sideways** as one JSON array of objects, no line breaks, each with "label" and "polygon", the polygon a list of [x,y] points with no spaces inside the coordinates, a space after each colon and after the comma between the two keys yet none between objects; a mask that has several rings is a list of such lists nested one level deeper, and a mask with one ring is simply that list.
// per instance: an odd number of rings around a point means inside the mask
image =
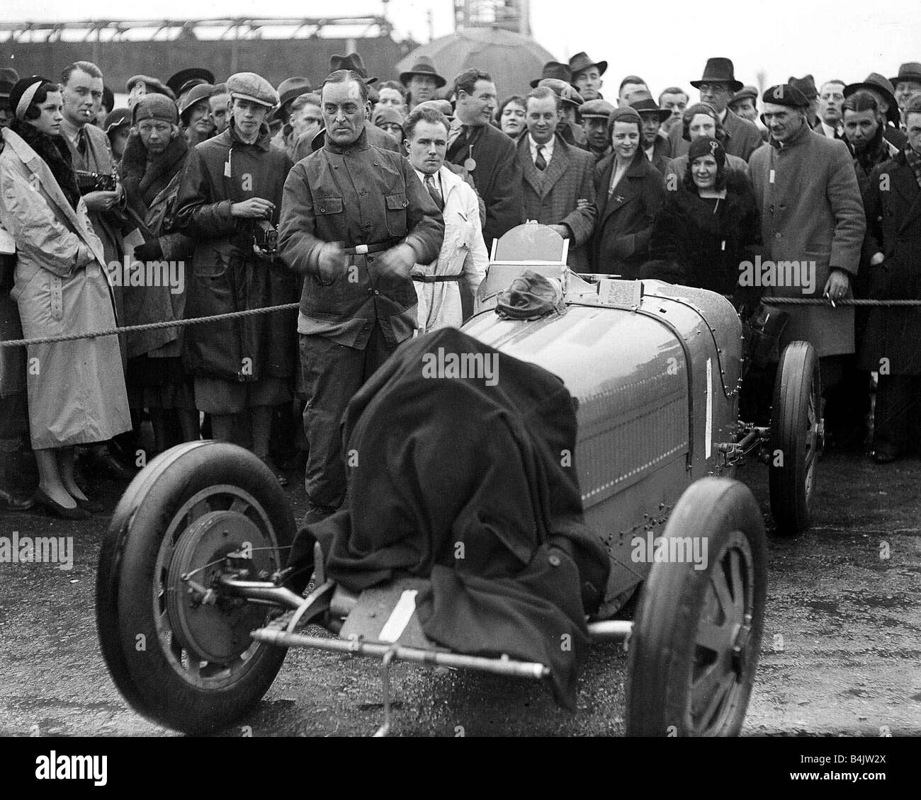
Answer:
[{"label": "bareheaded man in dark coat with round badge, looking sideways", "polygon": [[446,161],[457,164],[473,176],[476,191],[486,203],[483,238],[490,252],[493,239],[520,225],[521,169],[515,144],[495,128],[495,84],[488,73],[465,69],[454,78],[457,95],[448,136]]}]

